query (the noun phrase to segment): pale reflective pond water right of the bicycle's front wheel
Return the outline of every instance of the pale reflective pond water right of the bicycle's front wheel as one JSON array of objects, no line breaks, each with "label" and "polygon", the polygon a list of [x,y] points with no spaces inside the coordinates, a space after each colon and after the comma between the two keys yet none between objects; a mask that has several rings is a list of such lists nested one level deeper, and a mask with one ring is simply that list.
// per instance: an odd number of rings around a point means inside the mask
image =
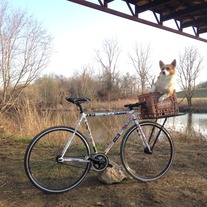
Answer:
[{"label": "pale reflective pond water right of the bicycle's front wheel", "polygon": [[207,114],[188,113],[183,116],[169,118],[165,127],[186,135],[196,133],[207,140]]}]

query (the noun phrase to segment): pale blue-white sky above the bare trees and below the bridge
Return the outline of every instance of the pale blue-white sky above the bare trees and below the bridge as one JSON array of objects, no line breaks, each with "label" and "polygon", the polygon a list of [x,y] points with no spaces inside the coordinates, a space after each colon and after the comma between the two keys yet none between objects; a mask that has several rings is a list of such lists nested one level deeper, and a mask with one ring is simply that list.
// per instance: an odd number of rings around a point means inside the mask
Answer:
[{"label": "pale blue-white sky above the bare trees and below the bridge", "polygon": [[[153,28],[138,22],[107,14],[67,0],[9,0],[14,8],[26,10],[42,22],[53,40],[54,53],[44,73],[71,76],[74,71],[94,63],[95,50],[101,49],[106,39],[117,39],[121,48],[119,70],[135,73],[128,54],[135,43],[149,45],[152,70],[159,73],[159,60],[171,63],[179,58],[185,47],[196,46],[207,63],[207,43]],[[98,2],[98,0],[93,0]],[[127,11],[123,1],[114,1],[110,8]],[[149,14],[143,14],[143,17]],[[200,81],[206,81],[203,70]]]}]

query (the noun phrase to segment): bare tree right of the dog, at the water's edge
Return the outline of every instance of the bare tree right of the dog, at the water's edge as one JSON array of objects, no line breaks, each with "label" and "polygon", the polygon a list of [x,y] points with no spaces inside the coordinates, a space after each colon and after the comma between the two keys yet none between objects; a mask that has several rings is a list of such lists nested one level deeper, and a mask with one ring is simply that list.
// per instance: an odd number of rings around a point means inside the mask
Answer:
[{"label": "bare tree right of the dog, at the water's edge", "polygon": [[194,46],[186,47],[184,54],[179,57],[178,84],[185,93],[188,107],[192,107],[192,97],[196,87],[196,80],[202,69],[203,57]]}]

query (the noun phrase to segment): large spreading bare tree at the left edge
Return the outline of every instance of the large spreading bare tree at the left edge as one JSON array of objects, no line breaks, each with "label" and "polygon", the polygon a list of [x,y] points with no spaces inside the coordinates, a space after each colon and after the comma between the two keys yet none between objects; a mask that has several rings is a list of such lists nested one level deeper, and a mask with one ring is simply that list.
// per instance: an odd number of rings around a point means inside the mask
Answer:
[{"label": "large spreading bare tree at the left edge", "polygon": [[1,2],[0,112],[15,105],[20,93],[47,66],[51,43],[51,36],[33,17]]}]

